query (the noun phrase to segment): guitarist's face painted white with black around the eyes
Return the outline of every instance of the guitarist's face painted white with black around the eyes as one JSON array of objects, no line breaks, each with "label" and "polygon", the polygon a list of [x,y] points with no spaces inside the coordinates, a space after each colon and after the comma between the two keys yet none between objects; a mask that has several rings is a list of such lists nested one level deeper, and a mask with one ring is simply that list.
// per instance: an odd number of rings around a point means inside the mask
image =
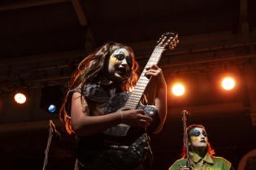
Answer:
[{"label": "guitarist's face painted white with black around the eyes", "polygon": [[130,67],[132,66],[132,59],[127,49],[116,49],[111,54],[108,73],[111,80],[115,82],[124,82],[128,79]]}]

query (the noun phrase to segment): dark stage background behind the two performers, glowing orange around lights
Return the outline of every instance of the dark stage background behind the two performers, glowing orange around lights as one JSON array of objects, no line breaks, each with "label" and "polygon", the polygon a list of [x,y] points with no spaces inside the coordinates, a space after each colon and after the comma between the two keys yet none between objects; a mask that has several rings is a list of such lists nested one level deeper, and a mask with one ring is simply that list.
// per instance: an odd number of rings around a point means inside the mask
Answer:
[{"label": "dark stage background behind the two performers, glowing orange around lights", "polygon": [[[256,147],[256,2],[4,0],[0,2],[0,169],[42,169],[53,120],[62,138],[53,138],[46,169],[72,169],[74,136],[57,113],[47,113],[77,64],[109,40],[130,45],[145,66],[163,32],[179,33],[159,66],[168,89],[186,84],[186,96],[168,92],[167,121],[154,135],[154,170],[167,169],[182,150],[181,111],[188,125],[206,126],[216,155],[238,168]],[[236,87],[222,91],[219,79],[233,75]],[[27,103],[13,101],[25,91]]]}]

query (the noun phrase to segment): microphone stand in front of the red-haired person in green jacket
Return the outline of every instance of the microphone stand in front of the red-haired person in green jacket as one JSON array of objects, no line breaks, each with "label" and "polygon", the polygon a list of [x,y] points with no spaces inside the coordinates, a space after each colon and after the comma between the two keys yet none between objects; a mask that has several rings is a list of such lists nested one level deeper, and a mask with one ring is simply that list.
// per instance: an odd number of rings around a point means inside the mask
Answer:
[{"label": "microphone stand in front of the red-haired person in green jacket", "polygon": [[187,115],[189,112],[187,110],[182,111],[182,121],[183,121],[183,131],[184,131],[184,136],[183,136],[183,142],[184,146],[186,148],[186,159],[187,159],[187,164],[184,167],[180,167],[180,170],[190,170],[190,161],[189,161],[189,144],[188,144],[188,134],[187,134]]}]

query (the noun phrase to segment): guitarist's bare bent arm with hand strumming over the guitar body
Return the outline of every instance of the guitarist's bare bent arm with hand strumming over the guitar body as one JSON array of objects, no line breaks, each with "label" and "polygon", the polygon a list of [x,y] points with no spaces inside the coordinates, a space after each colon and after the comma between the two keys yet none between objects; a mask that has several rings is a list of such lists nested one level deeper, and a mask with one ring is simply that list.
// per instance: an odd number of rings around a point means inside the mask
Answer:
[{"label": "guitarist's bare bent arm with hand strumming over the guitar body", "polygon": [[[122,115],[121,115],[122,114]],[[150,125],[152,119],[144,115],[143,110],[127,110],[102,116],[88,116],[89,107],[85,98],[80,100],[80,93],[74,92],[72,95],[72,129],[79,136],[86,136],[90,134],[97,134],[106,130],[107,128],[125,123],[134,126]],[[122,122],[121,122],[122,121]]]}]

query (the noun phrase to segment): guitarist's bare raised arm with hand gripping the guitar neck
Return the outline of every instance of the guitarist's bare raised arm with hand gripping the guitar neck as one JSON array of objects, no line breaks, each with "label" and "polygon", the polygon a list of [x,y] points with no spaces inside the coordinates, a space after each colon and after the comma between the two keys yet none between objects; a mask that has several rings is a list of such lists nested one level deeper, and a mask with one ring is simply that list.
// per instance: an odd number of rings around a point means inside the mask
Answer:
[{"label": "guitarist's bare raised arm with hand gripping the guitar neck", "polygon": [[160,123],[154,130],[154,134],[163,129],[163,124],[167,117],[167,84],[163,77],[163,71],[156,65],[147,66],[145,76],[151,77],[150,83],[146,88],[149,104],[154,104],[158,109]]}]

